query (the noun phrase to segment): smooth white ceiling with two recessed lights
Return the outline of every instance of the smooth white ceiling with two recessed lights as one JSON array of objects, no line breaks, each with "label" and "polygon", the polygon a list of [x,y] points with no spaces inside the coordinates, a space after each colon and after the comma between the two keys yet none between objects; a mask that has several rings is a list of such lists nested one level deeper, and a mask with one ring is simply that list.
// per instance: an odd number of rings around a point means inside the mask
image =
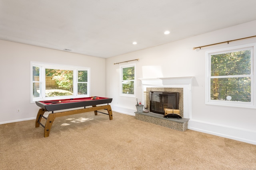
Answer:
[{"label": "smooth white ceiling with two recessed lights", "polygon": [[255,8],[256,0],[0,0],[0,39],[108,58],[256,20]]}]

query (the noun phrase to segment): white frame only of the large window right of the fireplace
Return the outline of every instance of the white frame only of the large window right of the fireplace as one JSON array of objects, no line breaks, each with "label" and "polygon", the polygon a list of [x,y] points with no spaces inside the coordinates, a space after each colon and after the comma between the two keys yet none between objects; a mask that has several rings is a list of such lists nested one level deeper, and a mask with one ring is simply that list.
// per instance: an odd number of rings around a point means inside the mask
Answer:
[{"label": "white frame only of the large window right of the fireplace", "polygon": [[[237,102],[237,101],[228,101],[228,100],[211,100],[210,99],[210,79],[214,76],[211,76],[211,55],[222,54],[226,53],[227,51],[233,50],[243,50],[246,48],[252,48],[251,53],[251,74],[246,75],[251,78],[251,102]],[[215,49],[211,51],[205,52],[205,104],[210,105],[218,105],[218,106],[229,106],[229,107],[244,107],[244,108],[256,108],[256,87],[255,87],[255,80],[256,80],[256,73],[254,67],[256,66],[255,57],[256,56],[256,44],[246,44],[246,45],[239,45],[234,47],[228,47],[223,49]],[[222,78],[224,78],[222,76]]]}]

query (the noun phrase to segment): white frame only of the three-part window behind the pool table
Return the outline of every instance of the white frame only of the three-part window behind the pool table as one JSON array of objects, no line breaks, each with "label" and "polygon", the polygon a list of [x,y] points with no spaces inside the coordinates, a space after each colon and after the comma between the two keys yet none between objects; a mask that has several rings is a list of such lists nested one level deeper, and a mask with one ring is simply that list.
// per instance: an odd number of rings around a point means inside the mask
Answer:
[{"label": "white frame only of the three-part window behind the pool table", "polygon": [[[41,86],[41,96],[33,98],[33,66],[40,67],[40,76],[39,82]],[[57,69],[57,70],[72,70],[73,71],[73,95],[70,96],[45,96],[45,69]],[[78,87],[78,71],[87,71],[87,94],[77,94]],[[88,67],[78,67],[78,66],[68,66],[68,65],[60,65],[60,64],[50,64],[50,63],[40,63],[40,62],[30,62],[30,103],[34,103],[36,101],[44,101],[44,100],[60,100],[66,98],[83,98],[90,97],[90,68]]]}]

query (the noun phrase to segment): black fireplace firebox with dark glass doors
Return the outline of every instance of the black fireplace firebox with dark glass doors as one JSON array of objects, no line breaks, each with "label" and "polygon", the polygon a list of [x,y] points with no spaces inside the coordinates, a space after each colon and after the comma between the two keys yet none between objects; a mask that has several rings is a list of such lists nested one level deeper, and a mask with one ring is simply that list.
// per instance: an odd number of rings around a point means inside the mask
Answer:
[{"label": "black fireplace firebox with dark glass doors", "polygon": [[179,109],[179,92],[150,91],[150,111],[164,115],[164,109]]}]

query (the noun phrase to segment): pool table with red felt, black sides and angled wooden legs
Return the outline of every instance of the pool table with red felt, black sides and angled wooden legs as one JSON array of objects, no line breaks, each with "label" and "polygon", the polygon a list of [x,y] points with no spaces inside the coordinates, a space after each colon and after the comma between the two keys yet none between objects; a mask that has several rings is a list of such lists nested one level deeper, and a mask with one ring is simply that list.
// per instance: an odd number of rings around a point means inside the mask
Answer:
[{"label": "pool table with red felt, black sides and angled wooden legs", "polygon": [[[84,113],[88,111],[94,111],[94,115],[97,115],[100,112],[98,110],[107,110],[109,119],[112,120],[112,109],[109,105],[112,102],[112,98],[103,98],[103,97],[86,97],[86,98],[74,98],[74,99],[64,99],[64,100],[47,100],[36,102],[36,105],[41,107],[36,116],[36,127],[40,125],[44,127],[44,137],[48,137],[50,134],[50,129],[52,123],[56,117],[73,115],[78,113]],[[103,104],[103,105],[102,105]],[[101,106],[96,106],[101,105]],[[89,106],[86,108],[86,106]],[[78,107],[84,107],[79,109]],[[69,109],[68,111],[59,111],[63,109]],[[72,110],[70,110],[72,109]],[[49,113],[48,117],[44,117],[46,111],[52,111]],[[55,112],[54,111],[58,111]],[[107,114],[107,113],[104,113]],[[46,119],[45,125],[41,123],[42,118]]]}]

